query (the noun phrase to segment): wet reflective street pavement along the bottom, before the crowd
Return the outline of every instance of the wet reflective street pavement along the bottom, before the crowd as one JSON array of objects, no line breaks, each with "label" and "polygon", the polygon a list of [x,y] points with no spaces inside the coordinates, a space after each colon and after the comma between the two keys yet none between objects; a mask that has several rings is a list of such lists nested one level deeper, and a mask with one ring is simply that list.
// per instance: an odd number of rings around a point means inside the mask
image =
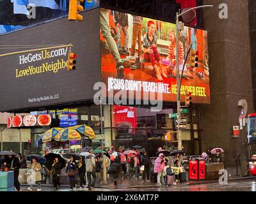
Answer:
[{"label": "wet reflective street pavement along the bottom, before the crowd", "polygon": [[[28,185],[22,185],[21,191],[28,191]],[[97,184],[95,191],[255,191],[256,179],[243,179],[228,181],[228,184],[221,185],[218,182],[189,184],[179,183],[177,186],[159,186],[151,182],[143,182],[141,178],[124,179],[118,181],[118,189],[114,189],[113,183]],[[33,189],[36,191],[36,188]],[[42,191],[69,191],[69,187],[61,186],[60,189],[53,189],[50,185],[43,185]],[[76,187],[73,191],[87,191],[86,188],[79,189]]]}]

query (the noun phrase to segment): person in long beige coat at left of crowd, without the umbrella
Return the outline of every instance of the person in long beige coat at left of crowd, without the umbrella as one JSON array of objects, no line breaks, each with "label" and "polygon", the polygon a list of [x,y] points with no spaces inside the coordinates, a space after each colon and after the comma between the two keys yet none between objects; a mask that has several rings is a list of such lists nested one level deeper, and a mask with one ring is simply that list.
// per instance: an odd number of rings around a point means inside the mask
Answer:
[{"label": "person in long beige coat at left of crowd, without the umbrella", "polygon": [[41,175],[41,169],[42,166],[40,163],[36,161],[36,157],[32,159],[32,165],[31,165],[31,185],[28,187],[29,191],[32,191],[32,188],[35,184],[38,184],[38,188],[36,191],[42,191],[41,189],[41,181],[42,181],[42,175]]}]

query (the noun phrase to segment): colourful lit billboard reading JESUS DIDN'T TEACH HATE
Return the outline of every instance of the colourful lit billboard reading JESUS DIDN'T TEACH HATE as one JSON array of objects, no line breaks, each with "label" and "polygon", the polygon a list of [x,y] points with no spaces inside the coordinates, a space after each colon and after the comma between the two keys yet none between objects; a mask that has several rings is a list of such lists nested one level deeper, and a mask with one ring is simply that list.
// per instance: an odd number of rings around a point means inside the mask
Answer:
[{"label": "colourful lit billboard reading JESUS DIDN'T TEACH HATE", "polygon": [[[100,32],[102,82],[107,87],[104,96],[118,98],[116,94],[125,91],[127,99],[144,99],[153,92],[163,101],[176,101],[175,24],[100,8]],[[197,67],[191,66],[190,57],[184,62],[190,44],[191,50],[199,53]],[[184,27],[178,48],[179,73],[185,64],[182,101],[189,91],[193,103],[210,103],[207,31]],[[118,69],[121,64],[124,74]]]}]

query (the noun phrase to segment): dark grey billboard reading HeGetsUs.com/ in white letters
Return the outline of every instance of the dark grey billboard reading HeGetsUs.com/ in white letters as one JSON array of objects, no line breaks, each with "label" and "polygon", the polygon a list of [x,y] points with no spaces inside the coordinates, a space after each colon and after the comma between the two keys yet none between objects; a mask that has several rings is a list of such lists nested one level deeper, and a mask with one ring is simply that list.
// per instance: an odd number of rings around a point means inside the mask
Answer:
[{"label": "dark grey billboard reading HeGetsUs.com/ in white letters", "polygon": [[[0,45],[9,47],[0,48],[0,56],[43,48],[0,57],[1,112],[93,98],[93,85],[100,82],[99,9],[82,15],[82,22],[65,17],[0,36]],[[72,71],[67,71],[70,47],[61,47],[68,44],[77,54]]]}]

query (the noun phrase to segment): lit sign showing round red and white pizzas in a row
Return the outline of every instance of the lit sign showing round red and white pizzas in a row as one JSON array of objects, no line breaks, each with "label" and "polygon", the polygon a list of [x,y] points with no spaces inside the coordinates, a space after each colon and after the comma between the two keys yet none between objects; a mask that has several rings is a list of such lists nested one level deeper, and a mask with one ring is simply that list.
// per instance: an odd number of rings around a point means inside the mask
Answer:
[{"label": "lit sign showing round red and white pizzas in a row", "polygon": [[15,115],[8,117],[8,128],[24,128],[51,125],[51,115]]}]

